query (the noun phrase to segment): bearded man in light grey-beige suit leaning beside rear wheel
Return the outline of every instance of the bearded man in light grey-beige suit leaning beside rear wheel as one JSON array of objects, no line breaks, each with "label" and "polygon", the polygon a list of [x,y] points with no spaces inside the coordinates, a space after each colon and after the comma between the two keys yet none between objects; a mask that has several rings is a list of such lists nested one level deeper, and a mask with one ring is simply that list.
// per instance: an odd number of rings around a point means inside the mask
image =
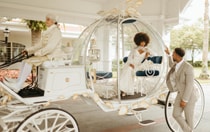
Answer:
[{"label": "bearded man in light grey-beige suit leaning beside rear wheel", "polygon": [[[168,49],[165,52],[170,55]],[[184,132],[192,132],[194,128],[193,115],[197,101],[194,88],[193,67],[183,57],[185,51],[182,48],[175,48],[172,56],[169,57],[169,66],[166,84],[171,92],[177,91],[174,103],[173,117],[181,126]],[[183,113],[185,117],[183,117]]]}]

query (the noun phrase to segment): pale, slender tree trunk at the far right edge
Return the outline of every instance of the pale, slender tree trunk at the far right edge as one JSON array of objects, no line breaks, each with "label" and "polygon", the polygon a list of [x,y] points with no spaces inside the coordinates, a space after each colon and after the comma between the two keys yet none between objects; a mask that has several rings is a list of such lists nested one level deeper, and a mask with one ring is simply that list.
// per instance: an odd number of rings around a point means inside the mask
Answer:
[{"label": "pale, slender tree trunk at the far right edge", "polygon": [[202,72],[200,78],[209,78],[208,74],[208,49],[209,49],[209,2],[205,0],[204,10],[204,34],[203,34],[203,57],[202,57]]}]

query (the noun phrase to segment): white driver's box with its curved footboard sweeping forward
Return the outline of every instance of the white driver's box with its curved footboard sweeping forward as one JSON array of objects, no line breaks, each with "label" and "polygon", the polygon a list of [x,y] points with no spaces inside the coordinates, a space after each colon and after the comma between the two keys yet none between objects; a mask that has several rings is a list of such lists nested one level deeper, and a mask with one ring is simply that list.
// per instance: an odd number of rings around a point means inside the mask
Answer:
[{"label": "white driver's box with its curved footboard sweeping forward", "polygon": [[39,88],[44,90],[44,96],[22,98],[6,85],[1,86],[14,98],[24,104],[39,104],[59,100],[66,100],[74,94],[88,91],[86,87],[84,66],[51,66],[40,67],[38,79]]}]

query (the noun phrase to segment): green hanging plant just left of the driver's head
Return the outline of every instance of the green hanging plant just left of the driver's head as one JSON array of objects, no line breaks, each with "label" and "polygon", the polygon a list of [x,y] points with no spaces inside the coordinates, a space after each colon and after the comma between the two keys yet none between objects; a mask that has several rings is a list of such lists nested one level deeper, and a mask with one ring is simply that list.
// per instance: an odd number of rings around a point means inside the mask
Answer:
[{"label": "green hanging plant just left of the driver's head", "polygon": [[40,41],[41,31],[46,30],[46,24],[43,21],[25,20],[27,26],[31,29],[32,46]]}]

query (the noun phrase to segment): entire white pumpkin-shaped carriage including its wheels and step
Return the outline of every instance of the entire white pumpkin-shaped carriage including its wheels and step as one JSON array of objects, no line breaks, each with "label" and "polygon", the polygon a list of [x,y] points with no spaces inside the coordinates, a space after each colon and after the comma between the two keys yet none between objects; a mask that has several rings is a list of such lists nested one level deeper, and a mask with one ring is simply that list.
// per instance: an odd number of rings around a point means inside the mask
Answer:
[{"label": "entire white pumpkin-shaped carriage including its wheels and step", "polygon": [[[137,95],[120,96],[119,78],[126,56],[134,48],[133,36],[145,32],[150,36],[148,48],[152,52],[144,67],[135,73],[134,90]],[[133,114],[140,125],[154,124],[142,114],[149,105],[162,102],[165,118],[172,131],[181,131],[172,117],[176,93],[168,92],[165,78],[168,72],[165,45],[159,34],[139,17],[121,14],[104,15],[88,26],[74,44],[73,54],[65,59],[48,62],[38,67],[36,87],[38,96],[21,96],[0,82],[0,129],[3,132],[78,132],[78,122],[66,110],[52,108],[50,103],[74,96],[93,99],[105,112],[118,111],[120,115]],[[18,58],[18,59],[17,59]],[[13,63],[25,57],[17,57]],[[10,64],[2,64],[5,68]],[[204,110],[204,95],[195,81],[200,96],[194,115],[195,127]]]}]

